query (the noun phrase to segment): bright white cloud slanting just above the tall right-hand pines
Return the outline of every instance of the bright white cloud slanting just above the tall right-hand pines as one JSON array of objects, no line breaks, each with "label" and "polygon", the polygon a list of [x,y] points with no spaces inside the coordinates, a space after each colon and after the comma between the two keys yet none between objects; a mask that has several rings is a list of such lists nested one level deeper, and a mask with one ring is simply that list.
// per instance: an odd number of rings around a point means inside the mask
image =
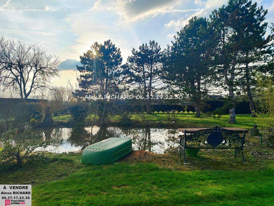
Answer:
[{"label": "bright white cloud slanting just above the tall right-hand pines", "polygon": [[169,23],[165,24],[165,26],[166,27],[181,28],[185,24],[187,24],[188,21],[193,16],[207,17],[208,18],[209,14],[214,9],[217,9],[217,8],[221,7],[222,5],[224,5],[226,3],[227,3],[227,0],[208,0],[208,1],[204,2],[204,7],[201,10],[199,10],[199,11],[197,11],[197,12],[195,12],[195,13],[189,15],[189,16],[181,17],[178,20],[171,20]]}]

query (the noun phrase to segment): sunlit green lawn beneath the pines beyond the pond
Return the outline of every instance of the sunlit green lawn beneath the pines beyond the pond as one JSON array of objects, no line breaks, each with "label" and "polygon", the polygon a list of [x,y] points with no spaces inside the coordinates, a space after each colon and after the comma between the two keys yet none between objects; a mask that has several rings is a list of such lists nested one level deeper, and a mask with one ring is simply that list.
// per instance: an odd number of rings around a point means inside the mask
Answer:
[{"label": "sunlit green lawn beneath the pines beyond the pond", "polygon": [[[273,119],[269,117],[257,117],[253,118],[251,114],[236,114],[236,124],[229,124],[229,115],[222,115],[221,118],[208,117],[206,114],[201,114],[201,118],[195,118],[194,113],[179,113],[175,124],[168,121],[167,115],[165,113],[153,113],[151,115],[147,114],[136,114],[132,117],[133,126],[138,125],[142,122],[142,119],[148,119],[152,126],[164,126],[167,124],[169,127],[241,127],[250,129],[253,127],[254,123],[257,123],[258,128],[263,128],[273,123]],[[60,120],[58,117],[53,117],[53,120],[58,122],[69,121],[70,115],[62,115]],[[88,121],[88,120],[87,120]],[[118,116],[113,116],[110,118],[109,125],[119,122]]]}]

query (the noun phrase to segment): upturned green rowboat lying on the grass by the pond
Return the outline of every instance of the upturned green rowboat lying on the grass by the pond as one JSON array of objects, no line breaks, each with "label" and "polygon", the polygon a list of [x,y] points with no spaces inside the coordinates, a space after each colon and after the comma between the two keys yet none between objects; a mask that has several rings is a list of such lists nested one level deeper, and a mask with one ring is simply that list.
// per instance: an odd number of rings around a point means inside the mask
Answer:
[{"label": "upturned green rowboat lying on the grass by the pond", "polygon": [[87,146],[80,162],[83,164],[99,165],[113,162],[132,151],[130,138],[112,137]]}]

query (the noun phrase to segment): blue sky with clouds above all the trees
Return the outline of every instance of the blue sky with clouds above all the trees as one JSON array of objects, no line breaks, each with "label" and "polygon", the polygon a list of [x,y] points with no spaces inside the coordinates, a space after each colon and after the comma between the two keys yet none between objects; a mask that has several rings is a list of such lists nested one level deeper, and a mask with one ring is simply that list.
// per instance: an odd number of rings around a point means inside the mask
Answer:
[{"label": "blue sky with clouds above all the trees", "polygon": [[[192,16],[209,17],[228,0],[0,0],[0,35],[38,42],[60,57],[53,85],[76,83],[79,56],[95,42],[111,39],[123,63],[132,48],[157,41],[166,48]],[[255,2],[255,1],[253,1]],[[256,1],[273,22],[274,0]]]}]

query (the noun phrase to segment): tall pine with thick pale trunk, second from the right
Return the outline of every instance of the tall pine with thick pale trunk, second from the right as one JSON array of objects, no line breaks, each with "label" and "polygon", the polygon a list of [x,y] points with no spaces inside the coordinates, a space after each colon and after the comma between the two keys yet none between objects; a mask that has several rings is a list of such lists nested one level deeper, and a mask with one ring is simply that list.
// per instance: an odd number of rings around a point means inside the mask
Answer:
[{"label": "tall pine with thick pale trunk, second from the right", "polygon": [[241,74],[241,62],[239,54],[242,49],[241,43],[244,34],[242,30],[248,27],[245,16],[242,12],[249,7],[247,0],[229,0],[227,5],[223,5],[218,10],[214,10],[210,15],[210,21],[214,29],[217,43],[216,69],[223,79],[223,88],[229,95],[229,123],[236,123],[235,118],[235,91],[237,80]]}]

